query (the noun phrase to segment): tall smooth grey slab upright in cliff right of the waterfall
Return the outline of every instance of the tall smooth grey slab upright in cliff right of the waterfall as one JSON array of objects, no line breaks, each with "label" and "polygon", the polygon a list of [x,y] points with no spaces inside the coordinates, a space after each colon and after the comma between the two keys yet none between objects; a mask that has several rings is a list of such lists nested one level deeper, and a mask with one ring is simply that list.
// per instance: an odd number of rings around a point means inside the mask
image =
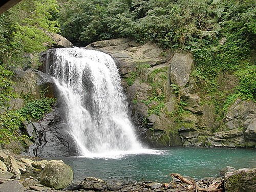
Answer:
[{"label": "tall smooth grey slab upright in cliff right of the waterfall", "polygon": [[185,87],[193,66],[191,54],[176,53],[170,61],[170,81],[180,88]]}]

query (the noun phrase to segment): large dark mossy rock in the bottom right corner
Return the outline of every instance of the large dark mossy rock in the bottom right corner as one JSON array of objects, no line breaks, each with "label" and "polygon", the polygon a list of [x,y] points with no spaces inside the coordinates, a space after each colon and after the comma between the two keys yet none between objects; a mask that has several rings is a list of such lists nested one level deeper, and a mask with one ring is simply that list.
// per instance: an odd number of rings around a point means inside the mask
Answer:
[{"label": "large dark mossy rock in the bottom right corner", "polygon": [[254,192],[256,168],[239,169],[225,174],[225,191]]}]

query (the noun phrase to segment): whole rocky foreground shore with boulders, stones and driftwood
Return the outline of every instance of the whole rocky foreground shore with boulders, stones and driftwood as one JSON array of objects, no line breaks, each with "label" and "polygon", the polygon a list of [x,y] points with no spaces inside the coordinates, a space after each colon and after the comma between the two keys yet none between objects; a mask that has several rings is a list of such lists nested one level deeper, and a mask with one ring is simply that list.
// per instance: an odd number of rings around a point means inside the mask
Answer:
[{"label": "whole rocky foreground shore with boulders, stones and driftwood", "polygon": [[[256,188],[256,168],[236,170],[225,167],[220,178],[194,180],[179,174],[170,176],[169,183],[103,181],[95,177],[81,178],[73,182],[73,170],[61,160],[43,160],[15,155],[0,150],[0,191],[253,191]],[[178,175],[178,176],[177,176]],[[189,175],[189,174],[187,174]],[[181,177],[181,179],[180,179]],[[178,178],[178,179],[177,179]],[[216,190],[210,186],[218,183]],[[225,190],[224,190],[225,189]],[[198,190],[201,191],[201,190]]]}]

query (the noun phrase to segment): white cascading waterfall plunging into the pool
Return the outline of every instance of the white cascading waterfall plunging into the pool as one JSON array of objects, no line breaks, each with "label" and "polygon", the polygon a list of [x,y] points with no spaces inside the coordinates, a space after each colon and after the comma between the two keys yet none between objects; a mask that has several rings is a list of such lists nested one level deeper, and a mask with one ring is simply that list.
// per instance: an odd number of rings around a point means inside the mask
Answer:
[{"label": "white cascading waterfall plunging into the pool", "polygon": [[144,149],[136,138],[118,69],[110,55],[60,48],[54,58],[50,74],[66,106],[66,121],[81,156],[155,153]]}]

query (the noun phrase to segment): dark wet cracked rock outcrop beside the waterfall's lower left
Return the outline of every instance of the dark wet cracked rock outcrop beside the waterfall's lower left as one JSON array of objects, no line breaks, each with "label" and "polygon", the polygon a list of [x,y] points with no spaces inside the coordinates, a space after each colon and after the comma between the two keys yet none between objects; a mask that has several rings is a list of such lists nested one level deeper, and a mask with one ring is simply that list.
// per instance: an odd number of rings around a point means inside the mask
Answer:
[{"label": "dark wet cracked rock outcrop beside the waterfall's lower left", "polygon": [[29,146],[27,155],[36,157],[72,156],[77,154],[75,142],[68,132],[68,126],[61,118],[60,109],[39,121],[26,124],[28,135],[34,143]]}]

